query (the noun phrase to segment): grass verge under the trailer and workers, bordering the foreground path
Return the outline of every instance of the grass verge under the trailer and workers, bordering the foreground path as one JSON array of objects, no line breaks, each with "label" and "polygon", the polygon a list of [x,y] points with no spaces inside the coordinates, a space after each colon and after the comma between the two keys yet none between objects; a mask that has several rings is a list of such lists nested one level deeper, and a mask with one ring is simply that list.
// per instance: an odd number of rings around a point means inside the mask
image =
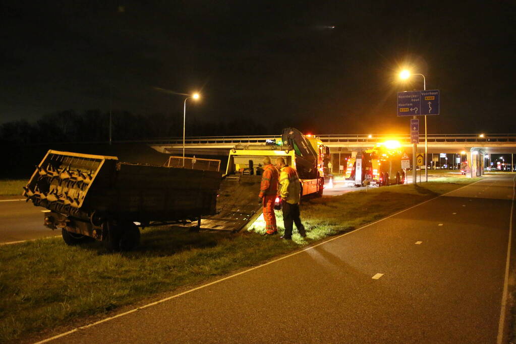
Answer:
[{"label": "grass verge under the trailer and workers, bordering the foreground path", "polygon": [[301,214],[308,238],[295,231],[292,242],[260,235],[259,220],[238,234],[150,228],[139,249],[119,254],[100,243],[68,247],[60,238],[0,246],[0,342],[84,324],[91,318],[83,317],[259,264],[473,181],[442,178],[308,201]]}]

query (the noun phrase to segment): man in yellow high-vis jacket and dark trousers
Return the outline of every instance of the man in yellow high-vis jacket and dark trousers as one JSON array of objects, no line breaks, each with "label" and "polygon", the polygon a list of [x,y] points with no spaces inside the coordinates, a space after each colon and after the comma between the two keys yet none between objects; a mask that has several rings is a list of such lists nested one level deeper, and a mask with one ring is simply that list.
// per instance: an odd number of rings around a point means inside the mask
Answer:
[{"label": "man in yellow high-vis jacket and dark trousers", "polygon": [[283,225],[285,226],[285,234],[282,239],[292,239],[293,225],[302,237],[307,236],[304,231],[303,223],[299,218],[299,200],[301,187],[299,185],[299,177],[297,171],[285,163],[285,159],[279,157],[276,159],[276,167],[280,170],[280,190],[281,210],[283,211]]}]

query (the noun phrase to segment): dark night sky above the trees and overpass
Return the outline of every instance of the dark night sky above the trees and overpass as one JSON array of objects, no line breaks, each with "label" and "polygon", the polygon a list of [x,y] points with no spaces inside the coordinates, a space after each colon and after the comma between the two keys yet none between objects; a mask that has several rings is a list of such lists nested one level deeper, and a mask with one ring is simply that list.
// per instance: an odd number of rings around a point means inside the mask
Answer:
[{"label": "dark night sky above the trees and overpass", "polygon": [[[513,1],[49,1],[1,5],[0,123],[59,110],[407,132],[402,66],[441,91],[429,133],[516,132]],[[214,133],[216,135],[217,133]],[[236,134],[236,133],[235,133]],[[263,132],[260,134],[279,134]]]}]

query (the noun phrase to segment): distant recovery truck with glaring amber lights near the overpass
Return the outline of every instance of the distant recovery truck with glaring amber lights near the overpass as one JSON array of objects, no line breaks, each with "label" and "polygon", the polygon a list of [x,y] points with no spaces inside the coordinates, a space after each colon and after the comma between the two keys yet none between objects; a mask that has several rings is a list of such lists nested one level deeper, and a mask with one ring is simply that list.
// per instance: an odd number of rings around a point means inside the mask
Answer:
[{"label": "distant recovery truck with glaring amber lights near the overpass", "polygon": [[[361,154],[361,185],[386,186],[405,183],[405,170],[401,168],[401,158],[405,151],[397,141],[378,144],[362,151]],[[355,184],[356,168],[357,157],[348,158],[345,175],[348,184]]]}]

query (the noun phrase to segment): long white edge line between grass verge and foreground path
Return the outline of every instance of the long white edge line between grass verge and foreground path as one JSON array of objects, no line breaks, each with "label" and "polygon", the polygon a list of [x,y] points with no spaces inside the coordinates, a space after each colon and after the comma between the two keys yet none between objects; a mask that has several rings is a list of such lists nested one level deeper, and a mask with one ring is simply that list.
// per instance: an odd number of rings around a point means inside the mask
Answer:
[{"label": "long white edge line between grass verge and foreground path", "polygon": [[368,223],[367,225],[365,225],[365,226],[363,226],[363,227],[360,227],[360,228],[357,228],[357,229],[355,229],[355,230],[352,230],[351,232],[347,232],[347,233],[344,233],[344,234],[341,234],[341,235],[337,235],[337,236],[335,236],[335,237],[333,237],[333,238],[330,238],[330,239],[328,239],[328,240],[326,240],[326,241],[324,241],[324,242],[322,242],[322,243],[319,243],[319,244],[317,244],[317,245],[307,247],[307,248],[305,248],[305,249],[302,249],[302,250],[300,250],[300,251],[296,251],[296,252],[291,253],[291,254],[287,254],[287,255],[285,255],[285,256],[282,256],[282,257],[280,257],[280,258],[278,258],[278,259],[275,259],[275,260],[273,260],[273,261],[270,261],[270,262],[264,263],[264,264],[262,264],[262,265],[258,265],[258,266],[252,267],[252,268],[250,268],[250,269],[247,269],[247,270],[244,270],[244,271],[240,271],[240,272],[234,273],[234,274],[232,274],[232,275],[230,275],[230,276],[228,276],[228,277],[221,278],[220,280],[216,280],[216,281],[213,281],[213,282],[209,282],[209,283],[206,283],[206,284],[200,285],[200,286],[198,286],[198,287],[195,287],[195,288],[192,288],[192,289],[188,289],[188,290],[186,290],[186,291],[183,291],[182,293],[175,294],[175,295],[169,296],[169,297],[167,297],[167,298],[164,298],[164,299],[161,299],[161,300],[158,300],[158,301],[155,301],[155,302],[152,302],[152,303],[149,303],[149,304],[146,304],[146,305],[140,306],[140,307],[138,307],[138,308],[131,309],[130,311],[123,312],[123,313],[120,313],[120,314],[117,314],[117,315],[114,315],[114,316],[112,316],[112,317],[108,317],[108,318],[105,318],[105,319],[102,319],[102,320],[99,320],[99,321],[95,321],[95,322],[92,322],[91,324],[87,324],[87,325],[84,325],[84,326],[80,326],[80,327],[75,328],[75,329],[73,329],[73,330],[70,330],[70,331],[68,331],[68,332],[61,333],[61,334],[55,335],[55,336],[50,337],[50,338],[47,338],[47,339],[43,339],[43,340],[38,341],[38,342],[36,342],[36,343],[34,343],[34,344],[42,344],[42,343],[46,343],[46,342],[52,341],[52,340],[54,340],[54,339],[58,339],[58,338],[61,338],[61,337],[68,336],[69,334],[72,334],[72,333],[74,333],[74,332],[77,332],[78,330],[87,329],[87,328],[90,328],[90,327],[92,327],[92,326],[99,325],[99,324],[101,324],[101,323],[103,323],[103,322],[107,322],[107,321],[109,321],[109,320],[113,320],[113,319],[116,319],[116,318],[123,317],[123,316],[125,316],[125,315],[128,315],[128,314],[134,313],[134,312],[136,312],[136,311],[139,311],[140,309],[144,309],[144,308],[147,308],[147,307],[155,306],[155,305],[157,305],[157,304],[160,304],[160,303],[163,303],[163,302],[166,302],[166,301],[169,301],[169,300],[172,300],[172,299],[178,298],[178,297],[180,297],[180,296],[183,296],[183,295],[186,295],[186,294],[190,294],[190,293],[192,293],[192,291],[196,291],[196,290],[199,290],[199,289],[203,289],[203,288],[205,288],[205,287],[208,287],[208,286],[211,286],[211,285],[214,285],[214,284],[220,283],[220,282],[222,282],[222,281],[229,280],[229,279],[231,279],[231,278],[233,278],[233,277],[240,276],[241,274],[244,274],[244,273],[247,273],[247,272],[250,272],[250,271],[253,271],[253,270],[259,269],[259,268],[261,268],[261,267],[263,267],[263,266],[267,266],[267,265],[270,265],[270,264],[272,264],[272,263],[276,263],[276,262],[282,261],[282,260],[284,260],[284,259],[287,259],[288,257],[292,257],[293,255],[297,255],[297,254],[299,254],[299,253],[303,253],[303,252],[305,252],[305,251],[312,250],[312,249],[314,249],[314,248],[316,248],[316,247],[318,247],[318,246],[321,246],[321,245],[324,245],[324,244],[326,244],[326,243],[332,242],[333,240],[336,240],[336,239],[342,238],[343,236],[346,236],[346,235],[349,235],[349,234],[351,234],[351,233],[357,232],[357,231],[359,231],[359,230],[361,230],[361,229],[364,229],[364,228],[367,228],[367,227],[369,227],[369,226],[376,225],[376,223],[378,223],[378,222],[381,222],[381,221],[386,220],[386,219],[388,219],[388,218],[394,217],[394,216],[399,215],[399,214],[401,214],[401,213],[405,213],[405,212],[406,212],[406,211],[408,211],[408,210],[411,210],[411,209],[413,209],[413,208],[419,207],[420,205],[423,205],[423,204],[425,204],[425,203],[428,203],[428,202],[430,202],[430,201],[433,201],[434,199],[437,199],[437,198],[439,198],[439,197],[443,197],[443,196],[445,196],[445,195],[448,195],[448,194],[451,194],[451,193],[453,193],[453,192],[459,191],[459,190],[461,190],[461,189],[462,189],[462,188],[464,188],[464,187],[471,186],[471,185],[476,184],[476,183],[478,183],[479,181],[482,181],[482,180],[485,180],[485,179],[479,179],[479,180],[477,180],[476,182],[473,182],[473,183],[471,183],[471,184],[464,185],[464,186],[459,187],[459,188],[457,188],[457,189],[455,189],[455,190],[453,190],[453,191],[447,192],[447,193],[445,193],[445,194],[439,195],[439,196],[434,197],[434,198],[430,198],[429,200],[426,200],[426,201],[424,201],[424,202],[418,203],[418,204],[416,204],[416,205],[412,205],[412,207],[410,207],[410,208],[407,208],[407,209],[404,209],[404,210],[400,210],[399,212],[394,213],[394,214],[389,215],[389,216],[386,216],[386,217],[384,217],[384,218],[381,218],[381,219],[379,219],[378,221]]}]

